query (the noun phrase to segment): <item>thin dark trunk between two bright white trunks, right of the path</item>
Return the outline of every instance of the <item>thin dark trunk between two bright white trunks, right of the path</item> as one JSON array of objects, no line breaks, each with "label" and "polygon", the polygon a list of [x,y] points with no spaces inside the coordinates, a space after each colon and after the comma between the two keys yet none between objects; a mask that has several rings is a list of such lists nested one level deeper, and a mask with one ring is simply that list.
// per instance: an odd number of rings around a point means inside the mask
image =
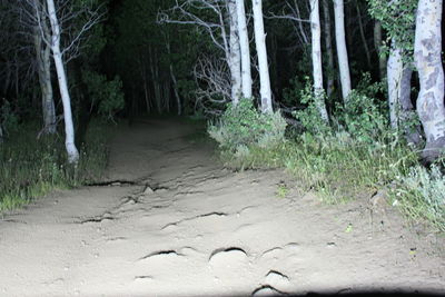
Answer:
[{"label": "thin dark trunk between two bright white trunks, right of the path", "polygon": [[334,50],[333,50],[333,36],[330,29],[330,13],[329,13],[329,2],[328,0],[323,0],[323,14],[325,18],[325,47],[327,56],[327,71],[326,78],[326,95],[330,97],[334,91]]}]

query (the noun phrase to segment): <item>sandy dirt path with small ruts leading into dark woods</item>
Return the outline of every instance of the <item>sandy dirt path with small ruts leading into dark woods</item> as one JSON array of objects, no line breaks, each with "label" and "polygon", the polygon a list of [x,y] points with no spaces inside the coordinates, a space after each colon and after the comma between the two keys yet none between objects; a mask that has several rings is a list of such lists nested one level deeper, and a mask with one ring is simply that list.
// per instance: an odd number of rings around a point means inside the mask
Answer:
[{"label": "sandy dirt path with small ruts leading into dark woods", "polygon": [[443,238],[413,235],[388,208],[370,216],[367,199],[322,205],[280,171],[222,169],[194,129],[121,127],[107,174],[120,184],[0,220],[0,295],[445,293]]}]

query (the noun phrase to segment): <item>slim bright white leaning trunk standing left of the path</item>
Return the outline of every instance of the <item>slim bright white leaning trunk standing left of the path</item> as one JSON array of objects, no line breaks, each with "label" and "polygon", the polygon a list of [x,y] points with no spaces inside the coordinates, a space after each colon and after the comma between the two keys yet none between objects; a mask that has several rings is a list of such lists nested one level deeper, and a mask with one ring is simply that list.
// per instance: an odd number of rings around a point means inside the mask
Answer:
[{"label": "slim bright white leaning trunk standing left of the path", "polygon": [[52,38],[51,51],[56,65],[57,78],[59,81],[60,96],[63,105],[63,120],[65,120],[65,146],[68,152],[68,162],[77,164],[79,161],[79,151],[75,145],[75,127],[72,123],[71,99],[68,91],[67,75],[65,72],[62,53],[60,51],[60,26],[56,14],[55,1],[47,0],[47,9],[49,20],[51,22]]}]

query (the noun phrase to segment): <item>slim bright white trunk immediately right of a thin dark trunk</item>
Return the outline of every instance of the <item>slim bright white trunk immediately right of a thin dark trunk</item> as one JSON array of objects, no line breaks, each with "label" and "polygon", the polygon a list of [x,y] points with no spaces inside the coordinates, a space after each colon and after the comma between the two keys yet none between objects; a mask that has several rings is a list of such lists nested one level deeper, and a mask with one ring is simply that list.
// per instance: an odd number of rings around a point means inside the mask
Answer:
[{"label": "slim bright white trunk immediately right of a thin dark trunk", "polygon": [[335,41],[337,44],[338,69],[340,72],[342,96],[345,103],[350,92],[349,61],[345,37],[345,6],[343,0],[334,0]]}]

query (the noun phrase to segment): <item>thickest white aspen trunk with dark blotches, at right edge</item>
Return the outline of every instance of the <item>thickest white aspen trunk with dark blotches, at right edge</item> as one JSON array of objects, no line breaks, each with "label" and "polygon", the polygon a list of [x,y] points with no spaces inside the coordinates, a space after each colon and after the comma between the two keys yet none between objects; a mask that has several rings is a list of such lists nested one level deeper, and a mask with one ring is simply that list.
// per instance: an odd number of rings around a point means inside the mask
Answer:
[{"label": "thickest white aspen trunk with dark blotches, at right edge", "polygon": [[421,81],[417,112],[426,136],[426,161],[436,159],[445,148],[442,7],[442,0],[419,0],[416,17],[414,60]]}]

